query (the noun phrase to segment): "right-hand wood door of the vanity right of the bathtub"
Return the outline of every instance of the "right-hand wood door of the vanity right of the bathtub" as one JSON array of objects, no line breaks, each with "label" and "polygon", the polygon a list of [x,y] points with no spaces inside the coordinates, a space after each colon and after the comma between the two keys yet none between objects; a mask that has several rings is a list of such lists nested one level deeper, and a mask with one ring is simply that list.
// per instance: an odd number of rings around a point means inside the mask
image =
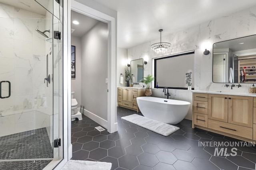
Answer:
[{"label": "right-hand wood door of the vanity right of the bathtub", "polygon": [[228,123],[252,127],[253,97],[229,96]]}]

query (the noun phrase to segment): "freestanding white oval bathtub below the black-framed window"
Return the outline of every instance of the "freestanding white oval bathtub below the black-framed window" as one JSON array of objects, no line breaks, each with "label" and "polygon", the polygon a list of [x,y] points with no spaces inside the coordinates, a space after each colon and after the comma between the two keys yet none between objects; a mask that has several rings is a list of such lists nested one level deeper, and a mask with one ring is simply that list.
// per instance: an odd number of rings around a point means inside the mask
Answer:
[{"label": "freestanding white oval bathtub below the black-framed window", "polygon": [[138,97],[137,104],[145,117],[172,125],[184,119],[190,106],[190,102],[155,97]]}]

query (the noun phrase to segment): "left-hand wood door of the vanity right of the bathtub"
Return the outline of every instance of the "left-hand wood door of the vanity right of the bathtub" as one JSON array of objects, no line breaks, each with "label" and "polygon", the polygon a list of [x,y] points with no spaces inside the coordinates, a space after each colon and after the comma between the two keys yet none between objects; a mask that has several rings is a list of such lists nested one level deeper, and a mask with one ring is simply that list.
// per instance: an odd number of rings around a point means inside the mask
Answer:
[{"label": "left-hand wood door of the vanity right of the bathtub", "polygon": [[208,119],[228,122],[228,95],[208,95]]}]

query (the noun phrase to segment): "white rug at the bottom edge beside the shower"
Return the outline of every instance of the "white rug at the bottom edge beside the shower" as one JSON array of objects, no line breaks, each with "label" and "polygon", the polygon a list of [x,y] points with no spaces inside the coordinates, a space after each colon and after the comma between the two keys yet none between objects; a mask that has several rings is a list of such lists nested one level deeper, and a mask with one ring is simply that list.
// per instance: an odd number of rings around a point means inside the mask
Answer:
[{"label": "white rug at the bottom edge beside the shower", "polygon": [[88,160],[69,160],[61,170],[110,170],[112,163]]}]

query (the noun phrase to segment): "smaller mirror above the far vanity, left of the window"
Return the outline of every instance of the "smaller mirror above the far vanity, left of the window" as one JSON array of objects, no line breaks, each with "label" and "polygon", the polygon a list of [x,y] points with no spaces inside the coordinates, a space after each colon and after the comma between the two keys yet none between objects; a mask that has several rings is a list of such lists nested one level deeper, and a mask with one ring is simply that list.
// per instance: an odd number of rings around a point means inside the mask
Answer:
[{"label": "smaller mirror above the far vanity, left of the window", "polygon": [[131,61],[131,82],[136,83],[143,80],[143,59]]}]

